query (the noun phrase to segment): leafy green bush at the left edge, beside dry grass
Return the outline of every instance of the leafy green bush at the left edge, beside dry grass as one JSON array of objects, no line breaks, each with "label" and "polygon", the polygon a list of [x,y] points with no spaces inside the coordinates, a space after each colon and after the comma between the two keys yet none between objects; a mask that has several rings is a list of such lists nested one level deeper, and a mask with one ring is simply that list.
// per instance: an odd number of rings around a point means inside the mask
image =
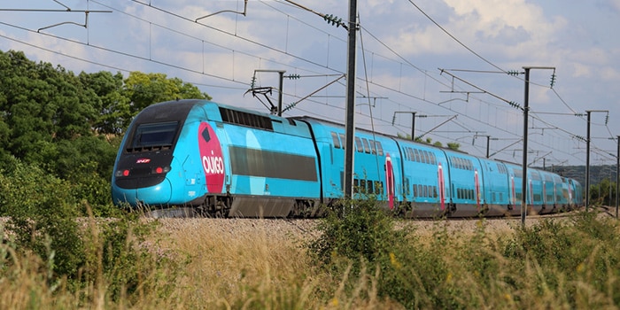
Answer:
[{"label": "leafy green bush at the left edge, beside dry grass", "polygon": [[71,185],[16,159],[5,167],[0,170],[0,213],[10,217],[7,226],[19,248],[53,260],[50,272],[74,277],[84,257]]}]

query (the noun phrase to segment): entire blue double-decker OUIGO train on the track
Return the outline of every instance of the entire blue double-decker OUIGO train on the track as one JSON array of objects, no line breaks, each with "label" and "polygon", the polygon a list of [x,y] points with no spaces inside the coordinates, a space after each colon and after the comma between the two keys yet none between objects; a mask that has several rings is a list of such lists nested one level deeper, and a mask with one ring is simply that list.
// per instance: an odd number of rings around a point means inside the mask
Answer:
[{"label": "entire blue double-decker OUIGO train on the track", "polygon": [[[460,151],[355,132],[354,192],[407,217],[519,215],[582,205],[575,180]],[[212,216],[312,217],[343,198],[345,128],[205,100],[136,115],[112,174],[117,205]]]}]

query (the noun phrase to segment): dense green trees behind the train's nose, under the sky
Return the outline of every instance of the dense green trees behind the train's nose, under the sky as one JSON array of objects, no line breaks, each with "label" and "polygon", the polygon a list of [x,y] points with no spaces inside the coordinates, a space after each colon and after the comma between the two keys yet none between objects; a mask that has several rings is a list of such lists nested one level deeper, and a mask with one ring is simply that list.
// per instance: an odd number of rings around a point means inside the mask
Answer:
[{"label": "dense green trees behind the train's nose, under the sky", "polygon": [[144,107],[182,98],[210,97],[166,74],[74,74],[0,51],[0,216],[54,198],[111,215],[122,134]]}]

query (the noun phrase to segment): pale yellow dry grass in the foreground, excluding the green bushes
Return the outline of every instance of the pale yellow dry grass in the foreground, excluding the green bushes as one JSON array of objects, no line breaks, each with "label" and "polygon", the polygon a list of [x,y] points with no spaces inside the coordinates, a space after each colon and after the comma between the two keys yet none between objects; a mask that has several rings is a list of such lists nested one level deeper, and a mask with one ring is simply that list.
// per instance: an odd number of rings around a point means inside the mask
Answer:
[{"label": "pale yellow dry grass in the foreground, excluding the green bushes", "polygon": [[[174,267],[153,272],[147,277],[174,279],[174,289],[161,296],[157,291],[137,290],[137,296],[112,300],[106,283],[67,290],[63,282],[48,283],[44,273],[47,262],[34,255],[16,253],[10,242],[0,244],[0,308],[86,308],[86,309],[401,309],[399,303],[380,298],[377,293],[378,270],[362,268],[360,275],[345,272],[340,278],[313,266],[304,242],[316,236],[312,221],[163,219],[152,240],[155,257],[184,262],[182,275]],[[533,221],[532,221],[533,223]],[[435,285],[438,290],[453,291],[456,305],[481,308],[570,308],[593,306],[614,308],[612,298],[618,288],[617,276],[608,275],[608,291],[593,288],[588,275],[589,261],[600,252],[592,252],[578,269],[577,283],[562,277],[565,270],[554,273],[556,283],[545,280],[544,270],[535,260],[525,260],[523,275],[513,275],[512,264],[499,252],[501,236],[514,233],[518,221],[403,221],[399,225],[415,226],[415,235],[429,253],[429,260],[446,262],[447,274]],[[482,229],[484,228],[484,229]],[[2,229],[0,229],[0,232]],[[484,232],[488,246],[468,249],[467,244]],[[613,232],[611,232],[613,233]],[[620,231],[616,231],[620,233]],[[443,236],[438,236],[444,234]],[[497,275],[477,273],[476,267],[463,267],[464,252],[472,251],[492,258],[499,268]],[[476,253],[474,253],[476,254]],[[435,255],[435,256],[434,256]],[[405,264],[405,262],[403,262]],[[591,264],[590,264],[591,265]],[[431,265],[428,265],[431,266]],[[427,267],[428,267],[427,266]],[[402,266],[407,281],[422,281],[419,266]],[[167,274],[169,273],[169,274]],[[547,274],[546,274],[547,273]],[[174,275],[173,275],[174,274]],[[334,280],[334,279],[337,280]],[[515,283],[520,289],[515,291]],[[535,280],[538,279],[538,280]],[[407,283],[407,281],[405,283]],[[555,288],[546,287],[553,284]],[[572,287],[577,287],[573,297]],[[571,289],[572,290],[572,289]],[[433,305],[430,291],[419,291],[418,302]],[[433,292],[437,294],[438,292]],[[447,294],[447,293],[446,293]],[[86,297],[86,298],[85,298]],[[425,299],[426,298],[426,299]],[[577,300],[577,301],[575,301]],[[414,306],[415,307],[415,306]]]}]

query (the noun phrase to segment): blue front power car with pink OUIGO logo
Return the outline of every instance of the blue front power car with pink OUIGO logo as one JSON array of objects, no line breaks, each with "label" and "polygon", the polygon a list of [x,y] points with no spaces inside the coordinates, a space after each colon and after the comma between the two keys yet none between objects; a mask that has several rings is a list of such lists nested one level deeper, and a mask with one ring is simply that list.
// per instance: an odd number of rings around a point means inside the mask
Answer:
[{"label": "blue front power car with pink OUIGO logo", "polygon": [[303,122],[182,100],[147,107],[126,139],[112,180],[117,203],[285,217],[320,199],[314,140]]}]

